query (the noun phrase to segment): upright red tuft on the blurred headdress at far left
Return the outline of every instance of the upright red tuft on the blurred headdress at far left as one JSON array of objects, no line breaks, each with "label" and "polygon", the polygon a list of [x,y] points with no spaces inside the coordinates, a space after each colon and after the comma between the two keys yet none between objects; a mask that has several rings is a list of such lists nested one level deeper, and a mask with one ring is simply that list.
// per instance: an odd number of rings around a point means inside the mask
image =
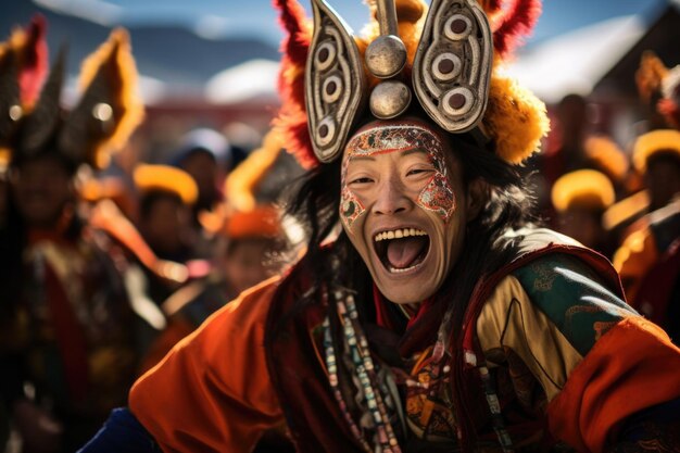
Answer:
[{"label": "upright red tuft on the blurred headdress at far left", "polygon": [[18,74],[21,100],[24,105],[33,105],[48,73],[48,49],[45,40],[47,22],[36,14],[26,33],[26,47],[23,49],[22,67]]}]

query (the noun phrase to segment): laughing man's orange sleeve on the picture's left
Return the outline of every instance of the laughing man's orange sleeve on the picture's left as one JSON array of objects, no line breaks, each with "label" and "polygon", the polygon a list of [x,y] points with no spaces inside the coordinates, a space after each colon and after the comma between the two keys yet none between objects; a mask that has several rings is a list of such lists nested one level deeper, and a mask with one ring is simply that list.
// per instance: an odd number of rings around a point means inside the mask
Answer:
[{"label": "laughing man's orange sleeve on the picture's left", "polygon": [[130,391],[131,412],[165,452],[249,452],[284,421],[264,325],[276,279],[244,292],[181,340]]}]

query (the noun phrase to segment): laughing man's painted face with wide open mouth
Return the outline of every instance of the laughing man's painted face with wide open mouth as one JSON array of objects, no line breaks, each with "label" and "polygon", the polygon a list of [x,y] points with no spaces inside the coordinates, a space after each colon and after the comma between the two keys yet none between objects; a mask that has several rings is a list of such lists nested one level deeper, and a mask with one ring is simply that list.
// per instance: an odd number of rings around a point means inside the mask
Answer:
[{"label": "laughing man's painted face with wide open mouth", "polygon": [[446,142],[415,118],[376,122],[350,139],[340,218],[388,300],[418,303],[453,268],[465,239],[461,174]]}]

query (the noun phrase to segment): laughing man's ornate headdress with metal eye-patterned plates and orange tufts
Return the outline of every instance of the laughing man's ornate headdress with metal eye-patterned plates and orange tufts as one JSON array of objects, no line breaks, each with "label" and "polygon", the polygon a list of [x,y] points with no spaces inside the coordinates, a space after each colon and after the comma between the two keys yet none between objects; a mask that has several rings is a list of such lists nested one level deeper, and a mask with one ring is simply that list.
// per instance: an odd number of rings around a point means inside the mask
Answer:
[{"label": "laughing man's ornate headdress with metal eye-patterned plates and orange tufts", "polygon": [[420,0],[374,0],[361,38],[325,0],[312,0],[313,27],[294,0],[275,3],[289,33],[275,125],[305,167],[341,154],[366,104],[387,119],[418,102],[444,130],[492,140],[513,164],[549,128],[543,103],[501,71],[532,29],[540,0],[432,0],[427,16]]}]

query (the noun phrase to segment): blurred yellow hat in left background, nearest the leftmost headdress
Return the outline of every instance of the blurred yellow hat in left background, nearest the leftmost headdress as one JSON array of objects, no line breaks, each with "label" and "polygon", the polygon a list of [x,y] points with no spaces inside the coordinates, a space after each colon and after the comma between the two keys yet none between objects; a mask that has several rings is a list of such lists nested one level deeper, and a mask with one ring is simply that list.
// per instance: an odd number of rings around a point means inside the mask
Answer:
[{"label": "blurred yellow hat in left background, nearest the leftmost headdress", "polygon": [[199,196],[191,175],[173,166],[141,164],[135,168],[133,177],[139,190],[176,193],[186,204],[193,204]]}]

